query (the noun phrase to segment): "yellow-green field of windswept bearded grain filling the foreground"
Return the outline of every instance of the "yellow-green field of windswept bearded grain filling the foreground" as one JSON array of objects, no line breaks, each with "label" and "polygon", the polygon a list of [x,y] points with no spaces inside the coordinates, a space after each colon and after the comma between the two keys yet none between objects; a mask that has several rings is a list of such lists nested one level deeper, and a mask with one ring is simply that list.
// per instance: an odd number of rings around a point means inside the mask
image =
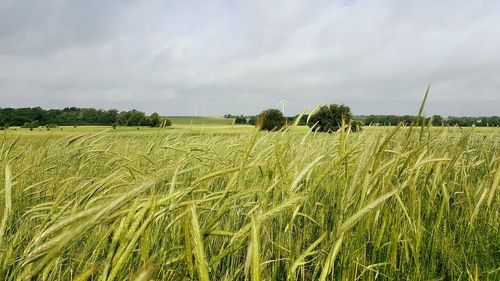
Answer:
[{"label": "yellow-green field of windswept bearded grain filling the foreground", "polygon": [[172,121],[3,131],[0,279],[500,280],[498,128]]}]

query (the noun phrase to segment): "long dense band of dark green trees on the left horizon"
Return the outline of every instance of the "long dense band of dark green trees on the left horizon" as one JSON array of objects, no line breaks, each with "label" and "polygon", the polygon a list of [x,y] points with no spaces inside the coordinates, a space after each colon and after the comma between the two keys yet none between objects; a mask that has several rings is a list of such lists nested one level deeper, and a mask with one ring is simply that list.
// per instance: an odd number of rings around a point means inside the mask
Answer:
[{"label": "long dense band of dark green trees on the left horizon", "polygon": [[[160,124],[169,126],[168,119],[162,119],[158,113],[147,116],[138,110],[118,111],[95,108],[67,107],[64,109],[45,110],[41,107],[32,108],[0,108],[0,126],[37,127],[47,125],[79,126],[79,125],[109,125],[109,126],[151,126]],[[35,126],[37,125],[37,126]]]}]

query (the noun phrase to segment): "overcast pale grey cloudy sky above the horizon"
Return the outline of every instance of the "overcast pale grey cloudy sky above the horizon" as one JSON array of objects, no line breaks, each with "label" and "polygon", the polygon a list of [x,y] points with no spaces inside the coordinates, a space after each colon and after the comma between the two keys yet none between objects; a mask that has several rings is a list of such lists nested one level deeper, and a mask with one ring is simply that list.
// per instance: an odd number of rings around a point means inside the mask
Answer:
[{"label": "overcast pale grey cloudy sky above the horizon", "polygon": [[0,107],[500,115],[500,1],[0,0]]}]

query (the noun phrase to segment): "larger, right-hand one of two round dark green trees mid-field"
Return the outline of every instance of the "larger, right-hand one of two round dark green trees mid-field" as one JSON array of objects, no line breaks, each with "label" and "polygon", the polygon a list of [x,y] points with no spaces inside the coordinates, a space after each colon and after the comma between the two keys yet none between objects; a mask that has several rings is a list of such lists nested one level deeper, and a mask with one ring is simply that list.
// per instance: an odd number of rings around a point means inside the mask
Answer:
[{"label": "larger, right-hand one of two round dark green trees mid-field", "polygon": [[[318,109],[309,119],[309,126],[316,125],[322,132],[335,132],[342,126],[342,120],[346,125],[351,123],[352,113],[347,105],[330,104]],[[352,129],[355,130],[356,127]]]}]

